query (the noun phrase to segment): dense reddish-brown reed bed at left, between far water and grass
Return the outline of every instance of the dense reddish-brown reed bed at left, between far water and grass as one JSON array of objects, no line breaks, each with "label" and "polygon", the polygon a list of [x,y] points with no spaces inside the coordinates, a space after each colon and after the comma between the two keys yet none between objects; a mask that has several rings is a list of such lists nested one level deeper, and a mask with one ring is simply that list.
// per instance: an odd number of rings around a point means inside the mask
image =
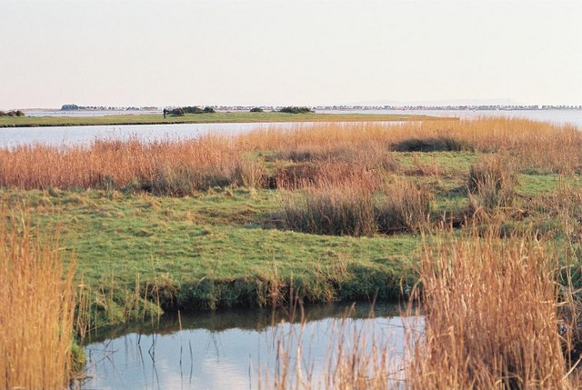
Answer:
[{"label": "dense reddish-brown reed bed at left, between far water and grass", "polygon": [[[0,149],[0,186],[129,188],[187,195],[236,182],[246,175],[245,167],[239,151],[213,136],[154,143],[94,141],[62,148],[27,145]],[[250,183],[254,182],[252,178]]]}]

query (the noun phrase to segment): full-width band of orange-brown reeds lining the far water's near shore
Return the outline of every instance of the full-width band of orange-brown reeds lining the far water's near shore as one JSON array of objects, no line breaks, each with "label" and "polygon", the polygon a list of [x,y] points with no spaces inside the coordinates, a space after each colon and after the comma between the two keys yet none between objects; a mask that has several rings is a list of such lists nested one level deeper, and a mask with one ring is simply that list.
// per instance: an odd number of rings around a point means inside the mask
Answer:
[{"label": "full-width band of orange-brown reeds lining the far water's near shore", "polygon": [[[479,118],[398,125],[298,124],[287,130],[260,129],[230,137],[204,135],[195,140],[1,148],[0,186],[135,187],[171,195],[213,185],[264,185],[265,166],[250,166],[252,159],[246,152],[268,151],[273,158],[294,163],[343,164],[356,170],[390,172],[397,165],[390,150],[465,149],[506,152],[517,157],[522,169],[582,170],[582,132],[576,127]],[[241,173],[246,176],[241,178]]]}]

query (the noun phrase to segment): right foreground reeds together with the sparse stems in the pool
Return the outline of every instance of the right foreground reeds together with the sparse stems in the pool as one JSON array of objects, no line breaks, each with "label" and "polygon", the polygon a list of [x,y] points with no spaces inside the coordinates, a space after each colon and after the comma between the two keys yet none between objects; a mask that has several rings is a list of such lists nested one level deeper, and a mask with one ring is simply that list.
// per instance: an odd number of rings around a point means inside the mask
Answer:
[{"label": "right foreground reeds together with the sparse stems in the pool", "polygon": [[266,383],[330,390],[579,388],[579,305],[571,284],[557,283],[561,269],[551,247],[534,235],[499,238],[495,228],[443,231],[427,237],[419,271],[421,306],[403,314],[417,315],[405,323],[404,357],[379,343],[374,329],[366,335],[347,329],[346,337],[340,328],[331,332],[317,376],[300,360],[309,355],[302,335],[281,335],[274,380]]}]

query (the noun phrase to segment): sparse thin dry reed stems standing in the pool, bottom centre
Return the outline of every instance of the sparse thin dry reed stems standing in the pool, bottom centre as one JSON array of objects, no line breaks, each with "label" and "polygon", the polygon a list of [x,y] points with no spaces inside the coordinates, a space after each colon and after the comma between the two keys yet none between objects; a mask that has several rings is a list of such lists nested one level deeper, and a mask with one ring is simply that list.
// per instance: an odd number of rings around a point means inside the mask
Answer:
[{"label": "sparse thin dry reed stems standing in the pool, bottom centre", "polygon": [[[276,390],[387,390],[401,383],[398,370],[402,362],[391,357],[391,348],[380,343],[386,339],[366,320],[343,318],[326,329],[329,349],[316,366],[309,350],[313,335],[306,330],[305,317],[298,325],[282,321],[276,329],[276,357],[273,372],[259,371],[259,388]],[[290,320],[292,321],[292,320]],[[377,333],[376,333],[377,332]]]}]

